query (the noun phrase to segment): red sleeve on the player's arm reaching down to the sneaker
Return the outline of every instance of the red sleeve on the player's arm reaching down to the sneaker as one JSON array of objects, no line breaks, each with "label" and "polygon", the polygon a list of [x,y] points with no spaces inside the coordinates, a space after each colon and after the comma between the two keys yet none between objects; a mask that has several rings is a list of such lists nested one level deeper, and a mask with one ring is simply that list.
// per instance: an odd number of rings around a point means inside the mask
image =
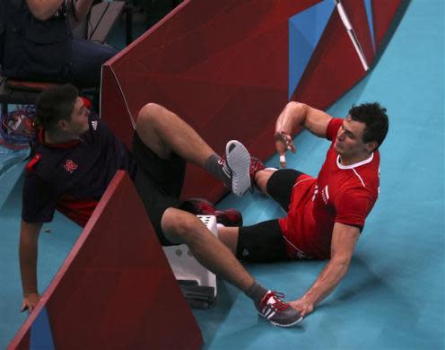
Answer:
[{"label": "red sleeve on the player's arm reaching down to the sneaker", "polygon": [[363,227],[366,216],[370,214],[375,200],[364,188],[349,190],[336,197],[336,223]]}]

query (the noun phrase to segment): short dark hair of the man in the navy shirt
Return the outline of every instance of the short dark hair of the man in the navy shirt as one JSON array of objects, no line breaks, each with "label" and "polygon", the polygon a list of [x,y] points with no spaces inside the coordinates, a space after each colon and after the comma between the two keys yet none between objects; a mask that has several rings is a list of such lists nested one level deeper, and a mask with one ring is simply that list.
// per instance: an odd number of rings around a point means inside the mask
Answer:
[{"label": "short dark hair of the man in the navy shirt", "polygon": [[41,92],[36,101],[36,117],[39,126],[54,130],[61,119],[69,121],[79,91],[72,84],[58,85]]}]

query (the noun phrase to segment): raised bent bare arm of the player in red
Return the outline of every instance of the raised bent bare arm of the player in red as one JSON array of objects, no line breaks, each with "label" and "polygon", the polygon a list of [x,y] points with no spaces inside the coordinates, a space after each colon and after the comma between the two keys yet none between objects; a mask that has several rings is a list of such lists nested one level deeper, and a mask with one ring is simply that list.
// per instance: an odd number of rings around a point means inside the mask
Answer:
[{"label": "raised bent bare arm of the player in red", "polygon": [[295,153],[292,138],[298,127],[307,128],[312,134],[325,137],[331,118],[324,111],[314,109],[307,104],[295,101],[287,103],[275,123],[275,146],[280,154],[281,165],[285,167],[286,151]]}]

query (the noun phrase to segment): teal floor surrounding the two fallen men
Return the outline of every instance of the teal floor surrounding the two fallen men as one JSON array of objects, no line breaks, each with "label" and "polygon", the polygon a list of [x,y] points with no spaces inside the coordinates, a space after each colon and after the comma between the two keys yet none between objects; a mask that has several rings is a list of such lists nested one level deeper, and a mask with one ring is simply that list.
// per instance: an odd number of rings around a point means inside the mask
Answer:
[{"label": "teal floor surrounding the two fallen men", "polygon": [[[380,200],[345,280],[301,326],[290,329],[267,324],[243,293],[219,281],[217,304],[195,311],[205,349],[445,348],[444,20],[441,0],[413,0],[378,65],[328,109],[345,116],[353,103],[380,101],[390,116],[380,149]],[[289,165],[316,175],[327,142],[302,133],[295,143],[298,151],[288,157]],[[267,164],[276,166],[277,158]],[[0,184],[0,348],[26,318],[19,312],[17,261],[22,179],[10,189],[19,175],[15,167]],[[229,196],[219,206],[239,208],[248,224],[283,215],[260,195]],[[45,228],[41,290],[80,232],[62,216]],[[262,284],[296,299],[324,265],[303,261],[246,267]]]}]

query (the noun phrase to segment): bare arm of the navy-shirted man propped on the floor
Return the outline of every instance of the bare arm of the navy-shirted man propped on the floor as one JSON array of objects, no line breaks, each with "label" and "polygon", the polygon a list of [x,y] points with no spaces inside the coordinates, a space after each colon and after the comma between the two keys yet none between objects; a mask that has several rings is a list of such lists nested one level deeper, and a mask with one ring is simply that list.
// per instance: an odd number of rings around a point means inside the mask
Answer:
[{"label": "bare arm of the navy-shirted man propped on the floor", "polygon": [[22,311],[33,311],[39,302],[37,289],[37,256],[41,223],[26,223],[22,220],[20,230],[20,272],[22,275]]}]

